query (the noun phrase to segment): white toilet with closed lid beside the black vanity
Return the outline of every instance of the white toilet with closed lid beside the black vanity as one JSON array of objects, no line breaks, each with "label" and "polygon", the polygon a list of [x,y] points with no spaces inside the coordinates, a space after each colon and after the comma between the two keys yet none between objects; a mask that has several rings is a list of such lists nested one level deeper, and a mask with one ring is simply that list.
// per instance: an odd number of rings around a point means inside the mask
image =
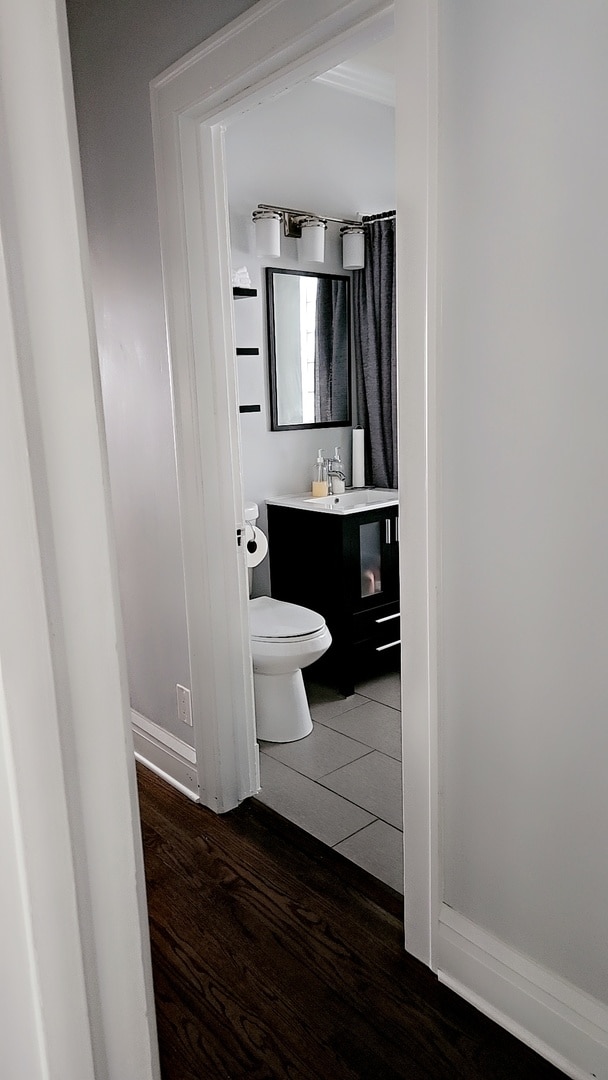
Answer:
[{"label": "white toilet with closed lid beside the black vanity", "polygon": [[[245,531],[252,537],[257,516],[257,503],[246,503]],[[303,739],[312,731],[312,720],[301,670],[319,660],[332,644],[325,619],[297,604],[257,596],[249,600],[249,634],[258,739]]]}]

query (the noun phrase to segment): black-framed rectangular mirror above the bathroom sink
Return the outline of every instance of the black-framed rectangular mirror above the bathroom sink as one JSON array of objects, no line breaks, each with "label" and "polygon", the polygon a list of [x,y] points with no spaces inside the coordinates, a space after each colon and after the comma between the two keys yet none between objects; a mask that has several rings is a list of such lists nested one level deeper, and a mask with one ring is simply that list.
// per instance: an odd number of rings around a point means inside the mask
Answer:
[{"label": "black-framed rectangular mirror above the bathroom sink", "polygon": [[272,431],[351,423],[350,279],[266,268]]}]

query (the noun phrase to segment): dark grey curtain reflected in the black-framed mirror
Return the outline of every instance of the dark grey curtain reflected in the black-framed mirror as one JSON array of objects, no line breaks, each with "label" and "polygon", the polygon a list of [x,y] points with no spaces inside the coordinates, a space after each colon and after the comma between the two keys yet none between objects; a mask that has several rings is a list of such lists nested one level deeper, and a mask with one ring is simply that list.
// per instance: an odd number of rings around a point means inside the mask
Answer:
[{"label": "dark grey curtain reflected in the black-framed mirror", "polygon": [[319,278],[316,286],[316,324],[314,340],[314,421],[347,421],[348,384],[348,303],[346,282]]}]

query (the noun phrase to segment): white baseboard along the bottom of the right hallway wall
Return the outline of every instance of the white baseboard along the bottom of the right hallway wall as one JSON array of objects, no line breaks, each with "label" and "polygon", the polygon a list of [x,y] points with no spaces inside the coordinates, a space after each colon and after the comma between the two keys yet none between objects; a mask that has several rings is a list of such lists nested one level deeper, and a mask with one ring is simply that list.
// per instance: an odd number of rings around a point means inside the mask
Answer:
[{"label": "white baseboard along the bottom of the right hallway wall", "polygon": [[572,1080],[608,1080],[608,1008],[445,904],[437,975]]}]

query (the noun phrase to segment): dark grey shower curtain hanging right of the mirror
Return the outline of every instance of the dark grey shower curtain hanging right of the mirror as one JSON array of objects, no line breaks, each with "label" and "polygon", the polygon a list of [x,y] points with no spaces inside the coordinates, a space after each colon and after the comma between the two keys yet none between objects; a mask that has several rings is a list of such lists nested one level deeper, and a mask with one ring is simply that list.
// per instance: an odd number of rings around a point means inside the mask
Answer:
[{"label": "dark grey shower curtain hanging right of the mirror", "polygon": [[363,220],[365,268],[353,272],[353,333],[365,482],[396,488],[395,216],[391,212]]}]

